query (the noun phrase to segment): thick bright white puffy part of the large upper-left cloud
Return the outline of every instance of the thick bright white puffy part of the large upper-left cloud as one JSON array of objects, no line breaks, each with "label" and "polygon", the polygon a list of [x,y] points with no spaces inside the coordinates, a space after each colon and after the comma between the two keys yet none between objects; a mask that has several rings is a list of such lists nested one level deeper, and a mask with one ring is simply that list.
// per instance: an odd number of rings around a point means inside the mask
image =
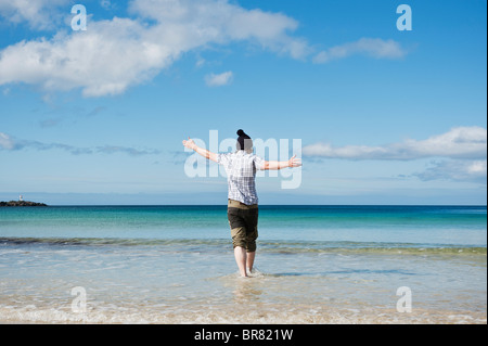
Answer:
[{"label": "thick bright white puffy part of the large upper-left cloud", "polygon": [[18,42],[0,52],[0,84],[26,82],[48,91],[80,87],[87,97],[121,93],[180,53],[147,34],[138,22],[114,18],[90,22],[87,31]]}]

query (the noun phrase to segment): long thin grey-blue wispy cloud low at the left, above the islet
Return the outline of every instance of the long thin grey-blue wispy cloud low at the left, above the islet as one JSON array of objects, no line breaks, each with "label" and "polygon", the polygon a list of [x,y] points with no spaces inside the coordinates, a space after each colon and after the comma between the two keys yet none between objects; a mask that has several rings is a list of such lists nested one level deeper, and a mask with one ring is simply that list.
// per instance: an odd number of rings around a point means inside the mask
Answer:
[{"label": "long thin grey-blue wispy cloud low at the left, above the islet", "polygon": [[34,149],[38,151],[62,150],[68,152],[72,155],[84,155],[95,153],[99,154],[123,153],[129,156],[142,156],[142,155],[160,154],[160,151],[156,149],[137,149],[120,145],[101,145],[93,148],[82,148],[63,143],[42,143],[39,141],[13,139],[9,134],[0,132],[0,150],[2,149],[7,151],[18,151],[23,149]]}]

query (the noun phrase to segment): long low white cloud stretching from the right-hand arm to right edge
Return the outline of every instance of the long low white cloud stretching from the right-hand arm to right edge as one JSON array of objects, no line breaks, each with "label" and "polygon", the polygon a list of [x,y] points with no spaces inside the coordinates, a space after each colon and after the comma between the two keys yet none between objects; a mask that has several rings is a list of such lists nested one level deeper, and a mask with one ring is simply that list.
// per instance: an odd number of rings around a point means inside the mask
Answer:
[{"label": "long low white cloud stretching from the right-hand arm to right edge", "polygon": [[346,159],[399,159],[450,157],[480,159],[487,156],[487,130],[480,127],[457,127],[426,140],[407,140],[378,146],[346,145],[334,148],[316,143],[303,149],[304,155]]}]

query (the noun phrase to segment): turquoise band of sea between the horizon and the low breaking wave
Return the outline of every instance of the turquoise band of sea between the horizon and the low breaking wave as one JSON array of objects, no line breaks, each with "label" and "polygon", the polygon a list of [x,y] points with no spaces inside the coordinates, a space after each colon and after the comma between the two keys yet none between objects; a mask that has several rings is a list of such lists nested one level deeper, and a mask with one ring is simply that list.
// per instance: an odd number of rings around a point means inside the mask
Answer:
[{"label": "turquoise band of sea between the horizon and the low breaking wave", "polygon": [[[479,245],[486,207],[261,206],[261,240]],[[224,206],[1,208],[2,238],[228,239]]]}]

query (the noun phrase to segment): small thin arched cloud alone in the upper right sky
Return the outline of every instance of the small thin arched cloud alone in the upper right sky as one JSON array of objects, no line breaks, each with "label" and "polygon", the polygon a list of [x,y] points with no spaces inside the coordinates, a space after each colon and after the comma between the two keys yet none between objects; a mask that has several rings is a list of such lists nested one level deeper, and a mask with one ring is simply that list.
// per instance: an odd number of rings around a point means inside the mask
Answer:
[{"label": "small thin arched cloud alone in the upper right sky", "polygon": [[407,55],[401,46],[394,40],[380,38],[361,38],[358,41],[332,47],[321,51],[313,57],[317,64],[329,63],[333,60],[362,54],[375,59],[400,59]]}]

